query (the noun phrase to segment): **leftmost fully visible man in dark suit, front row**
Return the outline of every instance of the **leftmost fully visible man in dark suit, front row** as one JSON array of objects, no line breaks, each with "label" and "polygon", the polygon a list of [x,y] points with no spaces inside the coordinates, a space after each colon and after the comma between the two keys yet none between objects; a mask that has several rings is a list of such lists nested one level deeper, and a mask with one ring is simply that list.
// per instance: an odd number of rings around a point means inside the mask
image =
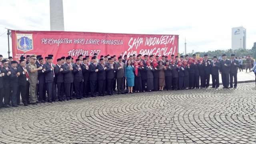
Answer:
[{"label": "leftmost fully visible man in dark suit, front row", "polygon": [[1,72],[4,73],[4,78],[3,78],[3,84],[4,88],[1,90],[1,95],[4,96],[4,108],[10,108],[9,103],[10,103],[10,74],[11,72],[9,71],[10,69],[8,68],[8,62],[7,60],[2,60],[2,65],[3,67],[1,68]]}]

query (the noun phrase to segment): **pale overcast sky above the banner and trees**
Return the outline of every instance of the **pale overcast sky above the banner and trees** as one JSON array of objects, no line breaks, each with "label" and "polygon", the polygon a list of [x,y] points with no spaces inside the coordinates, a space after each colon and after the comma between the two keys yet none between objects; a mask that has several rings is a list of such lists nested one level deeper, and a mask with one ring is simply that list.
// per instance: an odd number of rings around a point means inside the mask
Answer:
[{"label": "pale overcast sky above the banner and trees", "polygon": [[[238,26],[246,28],[246,48],[251,49],[256,42],[255,6],[254,0],[63,0],[65,31],[177,34],[180,53],[185,38],[187,53],[227,50],[231,29]],[[5,28],[50,30],[49,0],[0,0],[0,13],[4,58]]]}]

